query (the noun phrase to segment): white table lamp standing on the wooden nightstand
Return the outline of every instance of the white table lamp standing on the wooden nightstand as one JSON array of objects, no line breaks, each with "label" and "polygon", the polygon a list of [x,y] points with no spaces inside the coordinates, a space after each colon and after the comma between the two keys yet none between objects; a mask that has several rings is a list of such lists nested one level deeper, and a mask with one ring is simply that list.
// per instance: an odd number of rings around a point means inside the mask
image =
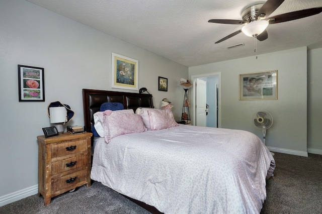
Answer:
[{"label": "white table lamp standing on the wooden nightstand", "polygon": [[49,108],[50,123],[55,124],[59,134],[63,133],[64,124],[67,122],[67,110],[64,106]]}]

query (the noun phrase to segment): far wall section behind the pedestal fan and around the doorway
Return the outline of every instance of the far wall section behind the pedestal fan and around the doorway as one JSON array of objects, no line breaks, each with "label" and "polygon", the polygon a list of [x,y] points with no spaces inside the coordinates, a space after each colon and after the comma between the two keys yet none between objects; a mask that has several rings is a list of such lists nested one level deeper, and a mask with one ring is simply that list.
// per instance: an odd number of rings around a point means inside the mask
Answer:
[{"label": "far wall section behind the pedestal fan and around the doorway", "polygon": [[[251,120],[258,110],[269,111],[274,118],[267,131],[270,149],[306,156],[306,47],[274,52],[255,57],[211,63],[189,68],[189,77],[196,74],[221,72],[221,127],[255,133],[262,131]],[[278,70],[277,100],[239,100],[239,74]],[[192,99],[191,99],[192,100]],[[194,104],[192,104],[194,106]]]}]

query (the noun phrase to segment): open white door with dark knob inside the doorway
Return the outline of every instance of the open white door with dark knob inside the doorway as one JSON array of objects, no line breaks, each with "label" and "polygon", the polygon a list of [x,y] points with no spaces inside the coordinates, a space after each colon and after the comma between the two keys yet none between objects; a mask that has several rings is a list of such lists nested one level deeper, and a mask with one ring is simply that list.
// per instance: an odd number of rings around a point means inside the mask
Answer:
[{"label": "open white door with dark knob inside the doorway", "polygon": [[196,126],[207,126],[206,100],[207,82],[200,78],[196,81]]}]

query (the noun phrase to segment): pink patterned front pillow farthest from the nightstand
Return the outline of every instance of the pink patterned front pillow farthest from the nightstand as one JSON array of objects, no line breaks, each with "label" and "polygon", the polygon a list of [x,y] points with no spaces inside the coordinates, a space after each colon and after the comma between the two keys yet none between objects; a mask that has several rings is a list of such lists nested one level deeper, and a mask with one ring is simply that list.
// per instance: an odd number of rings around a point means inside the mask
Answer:
[{"label": "pink patterned front pillow farthest from the nightstand", "polygon": [[162,130],[178,126],[170,109],[147,110],[151,130]]}]

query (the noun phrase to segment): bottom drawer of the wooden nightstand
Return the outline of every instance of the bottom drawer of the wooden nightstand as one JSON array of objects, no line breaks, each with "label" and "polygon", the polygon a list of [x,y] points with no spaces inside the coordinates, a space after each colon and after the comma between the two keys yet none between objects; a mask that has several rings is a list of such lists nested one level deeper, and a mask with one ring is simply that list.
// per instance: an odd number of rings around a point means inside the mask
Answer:
[{"label": "bottom drawer of the wooden nightstand", "polygon": [[86,182],[87,169],[78,171],[51,181],[51,193],[76,185],[80,182]]}]

